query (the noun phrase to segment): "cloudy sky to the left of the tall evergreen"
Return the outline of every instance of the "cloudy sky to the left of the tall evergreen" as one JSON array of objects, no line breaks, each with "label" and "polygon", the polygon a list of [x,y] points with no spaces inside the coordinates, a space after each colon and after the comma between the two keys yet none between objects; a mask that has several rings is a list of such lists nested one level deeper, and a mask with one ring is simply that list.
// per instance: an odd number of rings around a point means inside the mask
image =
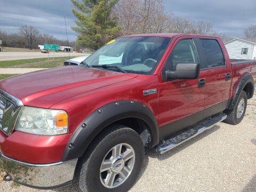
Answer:
[{"label": "cloudy sky to the left of the tall evergreen", "polygon": [[70,28],[76,26],[69,0],[0,0],[0,29],[6,33],[17,33],[20,26],[31,25],[41,34],[50,34],[58,39],[74,41],[76,33]]}]

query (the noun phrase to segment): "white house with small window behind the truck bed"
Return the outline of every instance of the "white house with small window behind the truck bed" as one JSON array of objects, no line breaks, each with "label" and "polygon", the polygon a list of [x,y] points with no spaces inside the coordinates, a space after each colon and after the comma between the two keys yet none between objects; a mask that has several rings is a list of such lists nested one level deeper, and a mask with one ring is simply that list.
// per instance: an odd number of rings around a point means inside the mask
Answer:
[{"label": "white house with small window behind the truck bed", "polygon": [[235,38],[225,46],[230,59],[256,59],[256,39]]}]

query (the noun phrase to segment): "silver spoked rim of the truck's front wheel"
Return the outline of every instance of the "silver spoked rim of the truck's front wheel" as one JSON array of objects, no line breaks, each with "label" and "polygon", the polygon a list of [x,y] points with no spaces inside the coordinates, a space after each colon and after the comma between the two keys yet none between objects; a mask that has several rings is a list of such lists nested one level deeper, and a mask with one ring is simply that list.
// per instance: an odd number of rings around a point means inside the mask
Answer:
[{"label": "silver spoked rim of the truck's front wheel", "polygon": [[129,178],[135,163],[135,152],[127,143],[111,148],[100,166],[100,181],[107,188],[122,185]]}]

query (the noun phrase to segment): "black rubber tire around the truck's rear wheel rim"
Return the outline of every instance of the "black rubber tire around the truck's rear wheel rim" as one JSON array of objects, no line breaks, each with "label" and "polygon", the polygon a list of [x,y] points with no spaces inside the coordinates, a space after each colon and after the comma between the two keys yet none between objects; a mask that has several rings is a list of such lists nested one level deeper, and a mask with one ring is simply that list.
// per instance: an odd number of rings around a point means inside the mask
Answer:
[{"label": "black rubber tire around the truck's rear wheel rim", "polygon": [[[238,108],[238,103],[242,98],[244,99],[244,110],[243,110],[242,116],[238,118],[237,117],[237,108]],[[246,107],[247,107],[247,94],[245,91],[242,91],[234,109],[225,111],[228,116],[224,122],[226,122],[228,124],[232,124],[232,125],[237,125],[238,123],[240,123],[242,121],[242,119],[244,118]]]}]

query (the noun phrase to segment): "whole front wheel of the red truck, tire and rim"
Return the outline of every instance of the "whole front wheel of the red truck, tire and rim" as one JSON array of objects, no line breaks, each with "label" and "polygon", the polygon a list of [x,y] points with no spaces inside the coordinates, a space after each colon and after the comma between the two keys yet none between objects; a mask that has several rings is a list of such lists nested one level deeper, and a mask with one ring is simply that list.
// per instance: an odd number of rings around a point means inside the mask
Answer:
[{"label": "whole front wheel of the red truck, tire and rim", "polygon": [[84,192],[127,191],[137,180],[143,159],[140,135],[129,127],[111,126],[79,162],[77,184]]}]

